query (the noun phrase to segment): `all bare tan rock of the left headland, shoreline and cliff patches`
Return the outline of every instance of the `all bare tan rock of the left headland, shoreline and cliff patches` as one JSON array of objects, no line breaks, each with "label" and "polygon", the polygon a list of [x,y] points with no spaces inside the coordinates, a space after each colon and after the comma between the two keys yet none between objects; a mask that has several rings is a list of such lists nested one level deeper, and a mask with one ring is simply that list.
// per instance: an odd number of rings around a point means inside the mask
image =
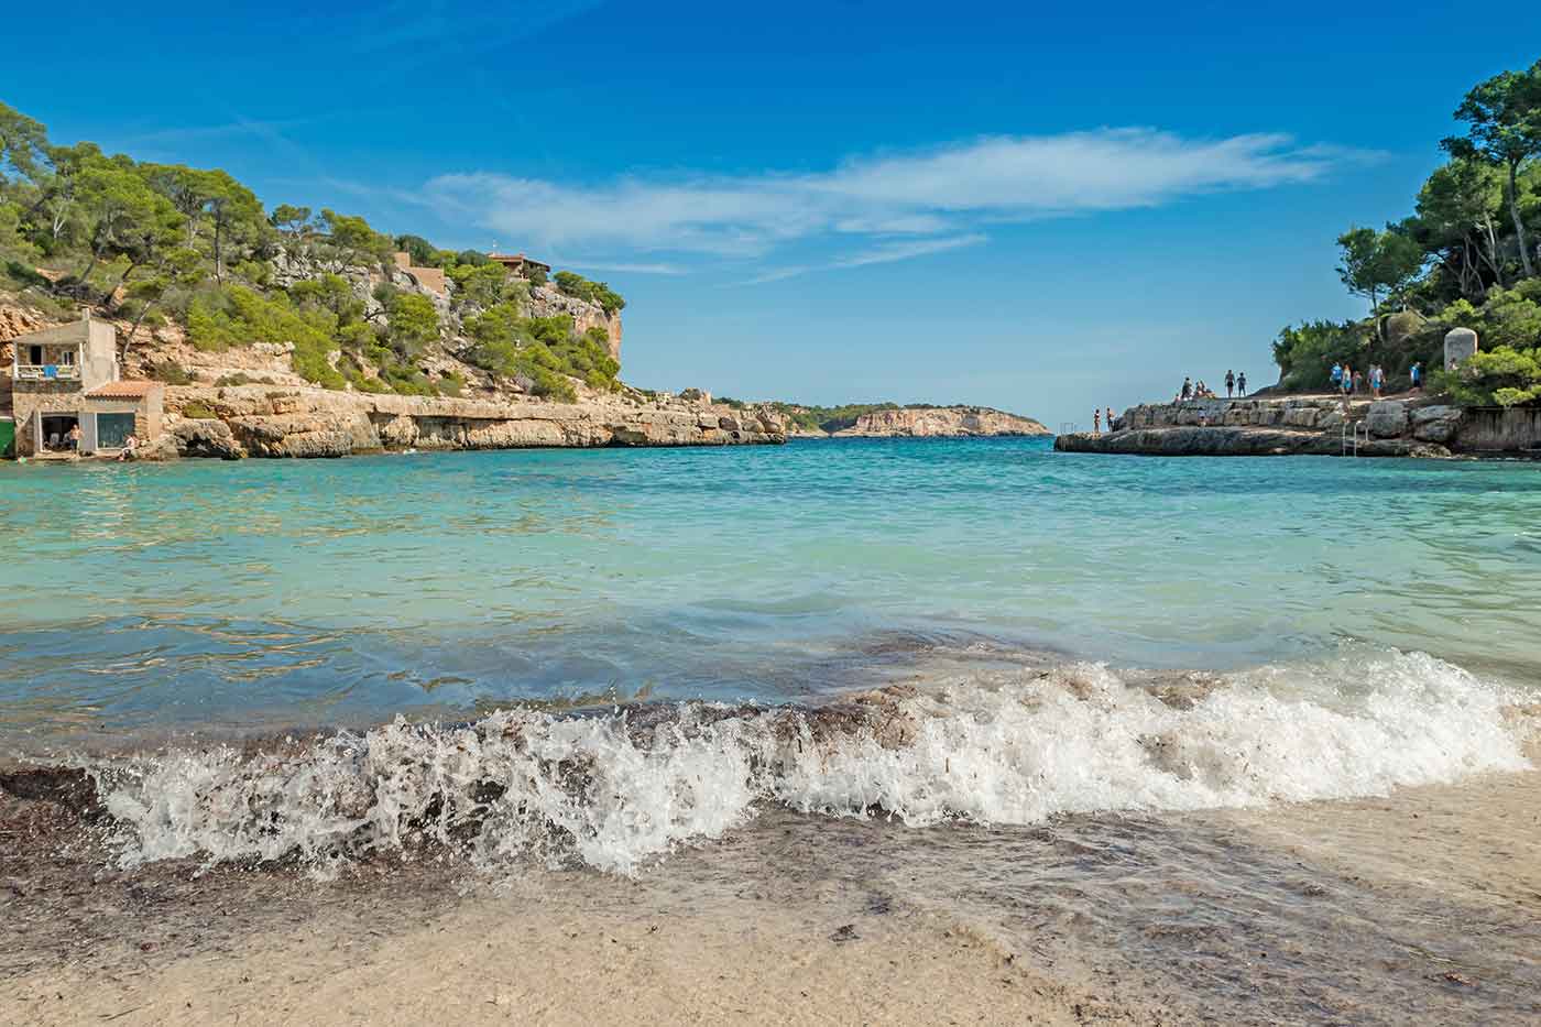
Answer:
[{"label": "all bare tan rock of the left headland, shoreline and cliff patches", "polygon": [[[367,282],[368,279],[361,279]],[[399,287],[430,295],[413,281]],[[362,293],[362,288],[361,288]],[[445,313],[447,324],[458,324]],[[566,315],[607,333],[619,352],[619,318],[596,304],[532,290],[538,316]],[[9,413],[11,339],[60,319],[0,302],[0,416]],[[119,338],[133,332],[114,322]],[[499,379],[464,359],[465,341],[447,335],[419,356],[436,381],[464,382],[462,395],[402,395],[348,386],[324,389],[297,372],[296,347],[253,342],[222,350],[194,347],[177,325],[140,332],[123,355],[131,378],[160,379],[163,432],[139,450],[140,460],[174,456],[347,456],[390,450],[462,450],[606,446],[777,444],[787,423],[769,406],[715,404],[700,390],[680,395],[618,384],[592,389],[572,379],[573,399],[542,398],[518,381]],[[333,355],[336,359],[336,355]],[[173,373],[168,373],[171,369]],[[170,378],[170,381],[168,381]]]}]

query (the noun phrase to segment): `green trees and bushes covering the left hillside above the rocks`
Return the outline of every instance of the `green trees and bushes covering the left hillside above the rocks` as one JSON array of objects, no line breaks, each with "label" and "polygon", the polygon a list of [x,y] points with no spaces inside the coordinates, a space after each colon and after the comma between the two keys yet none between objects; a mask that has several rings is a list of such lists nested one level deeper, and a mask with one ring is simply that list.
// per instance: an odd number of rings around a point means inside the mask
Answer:
[{"label": "green trees and bushes covering the left hillside above the rocks", "polygon": [[[396,250],[413,267],[445,271],[447,304],[391,284]],[[558,288],[609,315],[626,305],[604,282],[569,271],[558,274]],[[530,284],[482,253],[391,237],[334,210],[279,204],[268,211],[217,168],[136,162],[89,142],[54,145],[40,122],[6,103],[0,290],[60,318],[79,304],[122,318],[131,325],[120,338],[125,350],[142,325],[171,321],[200,349],[291,345],[296,373],[328,389],[405,393],[458,395],[464,381],[445,370],[450,356],[441,353],[431,372],[425,356],[484,311],[512,308],[518,330],[504,339],[507,352],[478,362],[493,381],[559,398],[573,396],[572,378],[618,387],[607,338],[578,332],[572,318],[530,318]]]}]

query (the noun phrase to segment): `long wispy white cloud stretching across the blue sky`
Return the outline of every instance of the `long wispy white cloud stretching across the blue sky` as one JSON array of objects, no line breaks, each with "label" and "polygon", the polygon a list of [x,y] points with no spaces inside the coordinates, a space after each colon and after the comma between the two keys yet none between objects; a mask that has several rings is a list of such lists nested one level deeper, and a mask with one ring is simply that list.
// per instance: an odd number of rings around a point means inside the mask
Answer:
[{"label": "long wispy white cloud stretching across the blue sky", "polygon": [[[1311,182],[1351,154],[1288,136],[1193,139],[1151,128],[1000,136],[848,159],[814,174],[632,176],[567,185],[495,173],[431,179],[441,216],[555,250],[760,259],[815,237],[866,237],[848,261],[778,268],[757,281],[857,267],[974,245],[977,230],[1089,211],[1153,207],[1190,196]],[[905,250],[894,239],[929,239]],[[922,245],[911,242],[911,247]]]}]

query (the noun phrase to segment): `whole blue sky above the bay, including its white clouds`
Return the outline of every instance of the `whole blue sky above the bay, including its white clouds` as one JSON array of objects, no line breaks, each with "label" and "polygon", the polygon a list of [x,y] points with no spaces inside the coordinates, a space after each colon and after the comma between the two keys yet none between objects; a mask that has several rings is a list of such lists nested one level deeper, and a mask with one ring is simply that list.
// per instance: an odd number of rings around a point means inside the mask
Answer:
[{"label": "whole blue sky above the bay, including its white clouds", "polygon": [[1336,236],[1410,213],[1465,89],[1541,57],[1541,6],[1499,6],[26,5],[0,100],[603,279],[636,386],[1085,427],[1364,313]]}]

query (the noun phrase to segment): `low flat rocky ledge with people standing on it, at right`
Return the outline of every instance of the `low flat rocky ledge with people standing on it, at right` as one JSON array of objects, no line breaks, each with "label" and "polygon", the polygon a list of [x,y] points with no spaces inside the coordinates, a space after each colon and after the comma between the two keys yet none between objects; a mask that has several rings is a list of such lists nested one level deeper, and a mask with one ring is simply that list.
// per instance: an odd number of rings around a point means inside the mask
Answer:
[{"label": "low flat rocky ledge with people standing on it, at right", "polygon": [[1532,410],[1487,410],[1435,399],[1267,396],[1190,399],[1130,407],[1103,433],[1054,439],[1071,453],[1159,456],[1452,456],[1533,455],[1541,419]]}]

